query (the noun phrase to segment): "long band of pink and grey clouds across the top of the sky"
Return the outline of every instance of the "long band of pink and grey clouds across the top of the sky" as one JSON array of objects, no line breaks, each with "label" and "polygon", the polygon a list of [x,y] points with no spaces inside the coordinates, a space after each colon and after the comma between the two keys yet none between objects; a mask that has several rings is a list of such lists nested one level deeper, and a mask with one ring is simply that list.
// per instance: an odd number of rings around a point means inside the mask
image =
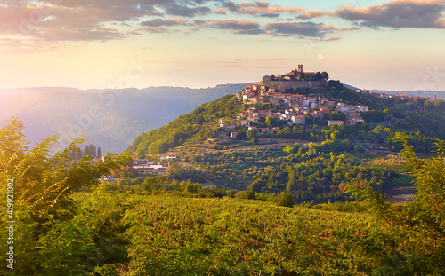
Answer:
[{"label": "long band of pink and grey clouds across the top of the sky", "polygon": [[[0,4],[0,35],[5,37],[12,34],[9,37],[36,38],[53,43],[74,40],[107,41],[122,39],[128,35],[141,35],[144,32],[166,33],[173,31],[174,27],[188,26],[193,31],[198,31],[198,28],[217,28],[239,35],[267,33],[328,41],[341,39],[333,33],[363,27],[445,28],[444,10],[445,0],[393,0],[365,8],[344,5],[333,11],[305,11],[301,7],[285,7],[267,1],[4,0]],[[233,18],[202,18],[211,13],[232,15]],[[303,21],[286,21],[284,17],[273,20],[284,13],[292,13],[290,16],[286,14],[287,17],[295,19],[296,16]],[[271,20],[262,27],[255,20],[248,20],[248,16]],[[354,27],[342,28],[337,26],[338,23],[333,26],[309,21],[328,16],[351,21]],[[129,31],[131,27],[134,29]],[[187,28],[178,29],[187,31]]]}]

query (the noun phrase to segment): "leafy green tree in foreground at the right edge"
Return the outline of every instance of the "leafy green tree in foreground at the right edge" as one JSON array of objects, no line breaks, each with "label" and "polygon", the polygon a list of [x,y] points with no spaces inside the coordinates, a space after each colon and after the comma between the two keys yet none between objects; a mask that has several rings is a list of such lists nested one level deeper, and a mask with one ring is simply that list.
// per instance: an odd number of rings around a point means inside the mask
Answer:
[{"label": "leafy green tree in foreground at the right edge", "polygon": [[436,143],[437,156],[425,160],[416,156],[406,134],[396,133],[394,139],[402,143],[401,157],[414,177],[413,201],[396,209],[370,185],[349,185],[348,193],[368,201],[370,213],[404,241],[392,245],[397,252],[392,262],[403,264],[398,267],[401,274],[440,275],[445,269],[445,141]]}]

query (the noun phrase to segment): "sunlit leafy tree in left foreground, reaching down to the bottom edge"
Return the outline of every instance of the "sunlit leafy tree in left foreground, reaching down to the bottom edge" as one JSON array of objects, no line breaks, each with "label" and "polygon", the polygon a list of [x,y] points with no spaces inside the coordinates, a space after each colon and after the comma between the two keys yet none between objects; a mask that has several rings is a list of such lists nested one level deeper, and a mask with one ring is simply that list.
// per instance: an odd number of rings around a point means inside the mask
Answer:
[{"label": "sunlit leafy tree in left foreground, reaching down to the bottom edge", "polygon": [[[45,138],[29,149],[22,130],[23,123],[16,117],[0,130],[0,182],[11,184],[15,211],[11,216],[20,225],[20,232],[14,236],[15,259],[20,261],[14,270],[22,275],[69,275],[82,265],[81,260],[85,263],[99,252],[92,241],[93,232],[79,231],[85,223],[75,221],[77,207],[71,195],[98,185],[102,175],[131,157],[109,154],[104,162],[92,163],[87,157],[73,162],[71,153],[80,150],[83,139],[52,155],[56,137]],[[6,191],[0,192],[3,206]],[[2,227],[0,233],[5,235],[4,231]],[[5,245],[0,248],[4,250]]]}]

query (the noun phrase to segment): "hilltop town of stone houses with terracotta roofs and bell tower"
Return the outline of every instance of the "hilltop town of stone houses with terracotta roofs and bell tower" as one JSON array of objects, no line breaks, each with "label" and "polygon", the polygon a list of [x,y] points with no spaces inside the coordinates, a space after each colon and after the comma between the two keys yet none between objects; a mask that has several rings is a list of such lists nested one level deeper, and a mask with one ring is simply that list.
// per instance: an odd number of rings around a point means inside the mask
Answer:
[{"label": "hilltop town of stone houses with terracotta roofs and bell tower", "polygon": [[324,114],[331,112],[343,113],[346,115],[346,122],[343,120],[328,120],[328,125],[362,122],[361,112],[368,111],[368,106],[352,106],[343,102],[336,102],[325,97],[315,97],[314,95],[300,95],[297,92],[302,89],[318,89],[328,87],[328,73],[326,72],[303,72],[303,65],[299,65],[297,70],[284,75],[265,75],[263,80],[254,85],[247,85],[245,89],[237,93],[237,97],[245,105],[267,105],[271,109],[258,110],[250,107],[239,114],[240,124],[247,126],[250,130],[268,132],[275,129],[260,129],[251,127],[251,124],[260,122],[261,118],[271,117],[288,124],[305,124],[309,118],[320,118]]}]

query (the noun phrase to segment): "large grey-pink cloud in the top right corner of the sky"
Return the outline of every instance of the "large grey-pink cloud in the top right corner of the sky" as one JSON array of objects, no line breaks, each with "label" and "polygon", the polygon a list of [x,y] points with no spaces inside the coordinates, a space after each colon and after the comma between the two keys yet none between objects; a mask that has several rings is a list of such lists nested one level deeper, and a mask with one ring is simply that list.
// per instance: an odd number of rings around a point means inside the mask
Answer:
[{"label": "large grey-pink cloud in the top right corner of the sky", "polygon": [[369,28],[445,28],[444,0],[396,0],[368,8],[344,5],[335,12],[308,11],[300,19],[334,16]]}]

